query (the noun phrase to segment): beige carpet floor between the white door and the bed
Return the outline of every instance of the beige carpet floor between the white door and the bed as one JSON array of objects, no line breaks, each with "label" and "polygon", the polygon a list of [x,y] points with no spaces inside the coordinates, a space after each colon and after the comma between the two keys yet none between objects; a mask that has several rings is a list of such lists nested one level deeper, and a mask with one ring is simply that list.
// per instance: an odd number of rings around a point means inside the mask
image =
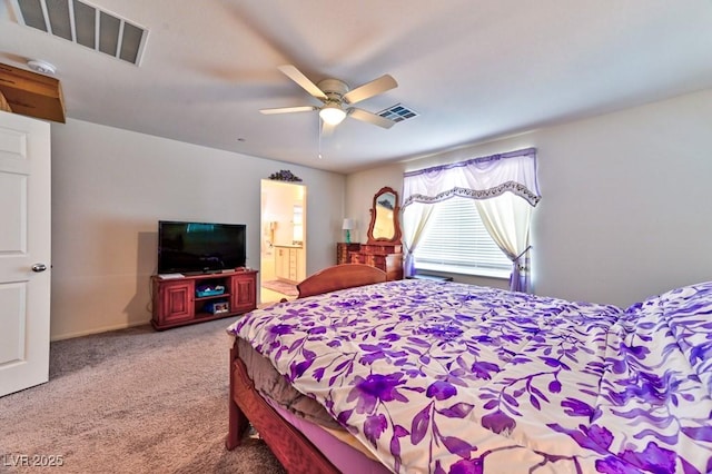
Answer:
[{"label": "beige carpet floor between the white door and the bed", "polygon": [[0,472],[284,473],[260,440],[224,445],[234,320],[52,343],[50,382],[0,398]]}]

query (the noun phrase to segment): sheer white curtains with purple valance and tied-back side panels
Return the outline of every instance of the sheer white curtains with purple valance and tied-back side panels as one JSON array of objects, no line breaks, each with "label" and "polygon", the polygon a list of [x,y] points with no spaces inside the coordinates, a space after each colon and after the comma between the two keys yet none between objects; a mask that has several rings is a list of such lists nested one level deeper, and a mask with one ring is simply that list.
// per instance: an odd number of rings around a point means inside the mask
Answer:
[{"label": "sheer white curtains with purple valance and tied-back side panels", "polygon": [[[536,149],[408,171],[403,180],[403,214],[414,210],[415,224],[404,228],[406,275],[413,270],[413,249],[427,228],[432,204],[463,196],[474,199],[485,227],[502,251],[512,260],[510,289],[530,290],[528,254],[532,208],[541,199],[536,179]],[[408,219],[411,220],[411,219]],[[404,219],[405,224],[406,219]],[[409,228],[413,227],[413,228]]]}]

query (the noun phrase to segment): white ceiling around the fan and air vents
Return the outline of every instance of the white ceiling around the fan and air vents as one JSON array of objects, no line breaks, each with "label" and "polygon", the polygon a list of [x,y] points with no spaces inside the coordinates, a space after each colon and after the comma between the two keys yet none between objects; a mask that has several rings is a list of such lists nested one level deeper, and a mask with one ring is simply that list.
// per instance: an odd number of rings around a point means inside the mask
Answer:
[{"label": "white ceiling around the fan and air vents", "polygon": [[[139,67],[0,1],[0,62],[53,63],[69,118],[339,172],[712,87],[712,0],[87,0],[149,30]],[[258,111],[319,105],[286,63],[352,88],[389,73],[358,107],[419,116],[348,118],[319,159],[316,112]]]}]

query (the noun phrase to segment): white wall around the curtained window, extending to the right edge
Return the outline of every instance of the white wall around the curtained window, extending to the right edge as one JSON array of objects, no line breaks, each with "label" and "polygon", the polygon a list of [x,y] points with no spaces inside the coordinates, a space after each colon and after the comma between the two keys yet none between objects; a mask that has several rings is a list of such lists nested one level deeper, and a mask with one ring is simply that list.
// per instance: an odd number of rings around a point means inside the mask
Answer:
[{"label": "white wall around the curtained window, extending to the right edge", "polygon": [[404,170],[536,147],[535,293],[626,307],[712,279],[710,124],[712,90],[552,126],[349,175],[346,209]]}]

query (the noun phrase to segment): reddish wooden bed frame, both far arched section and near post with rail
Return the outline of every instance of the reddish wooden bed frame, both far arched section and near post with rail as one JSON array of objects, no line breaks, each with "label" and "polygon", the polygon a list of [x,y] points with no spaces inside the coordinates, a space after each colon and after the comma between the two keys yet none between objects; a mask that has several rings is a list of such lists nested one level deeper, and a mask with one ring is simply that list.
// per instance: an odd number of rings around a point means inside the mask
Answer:
[{"label": "reddish wooden bed frame, both far arched section and near post with rail", "polygon": [[[298,297],[305,298],[385,280],[385,271],[368,265],[336,265],[298,284]],[[279,416],[255,389],[253,381],[247,375],[247,368],[239,358],[236,343],[230,349],[229,426],[225,442],[228,450],[239,446],[250,424],[289,473],[339,472],[301,432]]]}]

